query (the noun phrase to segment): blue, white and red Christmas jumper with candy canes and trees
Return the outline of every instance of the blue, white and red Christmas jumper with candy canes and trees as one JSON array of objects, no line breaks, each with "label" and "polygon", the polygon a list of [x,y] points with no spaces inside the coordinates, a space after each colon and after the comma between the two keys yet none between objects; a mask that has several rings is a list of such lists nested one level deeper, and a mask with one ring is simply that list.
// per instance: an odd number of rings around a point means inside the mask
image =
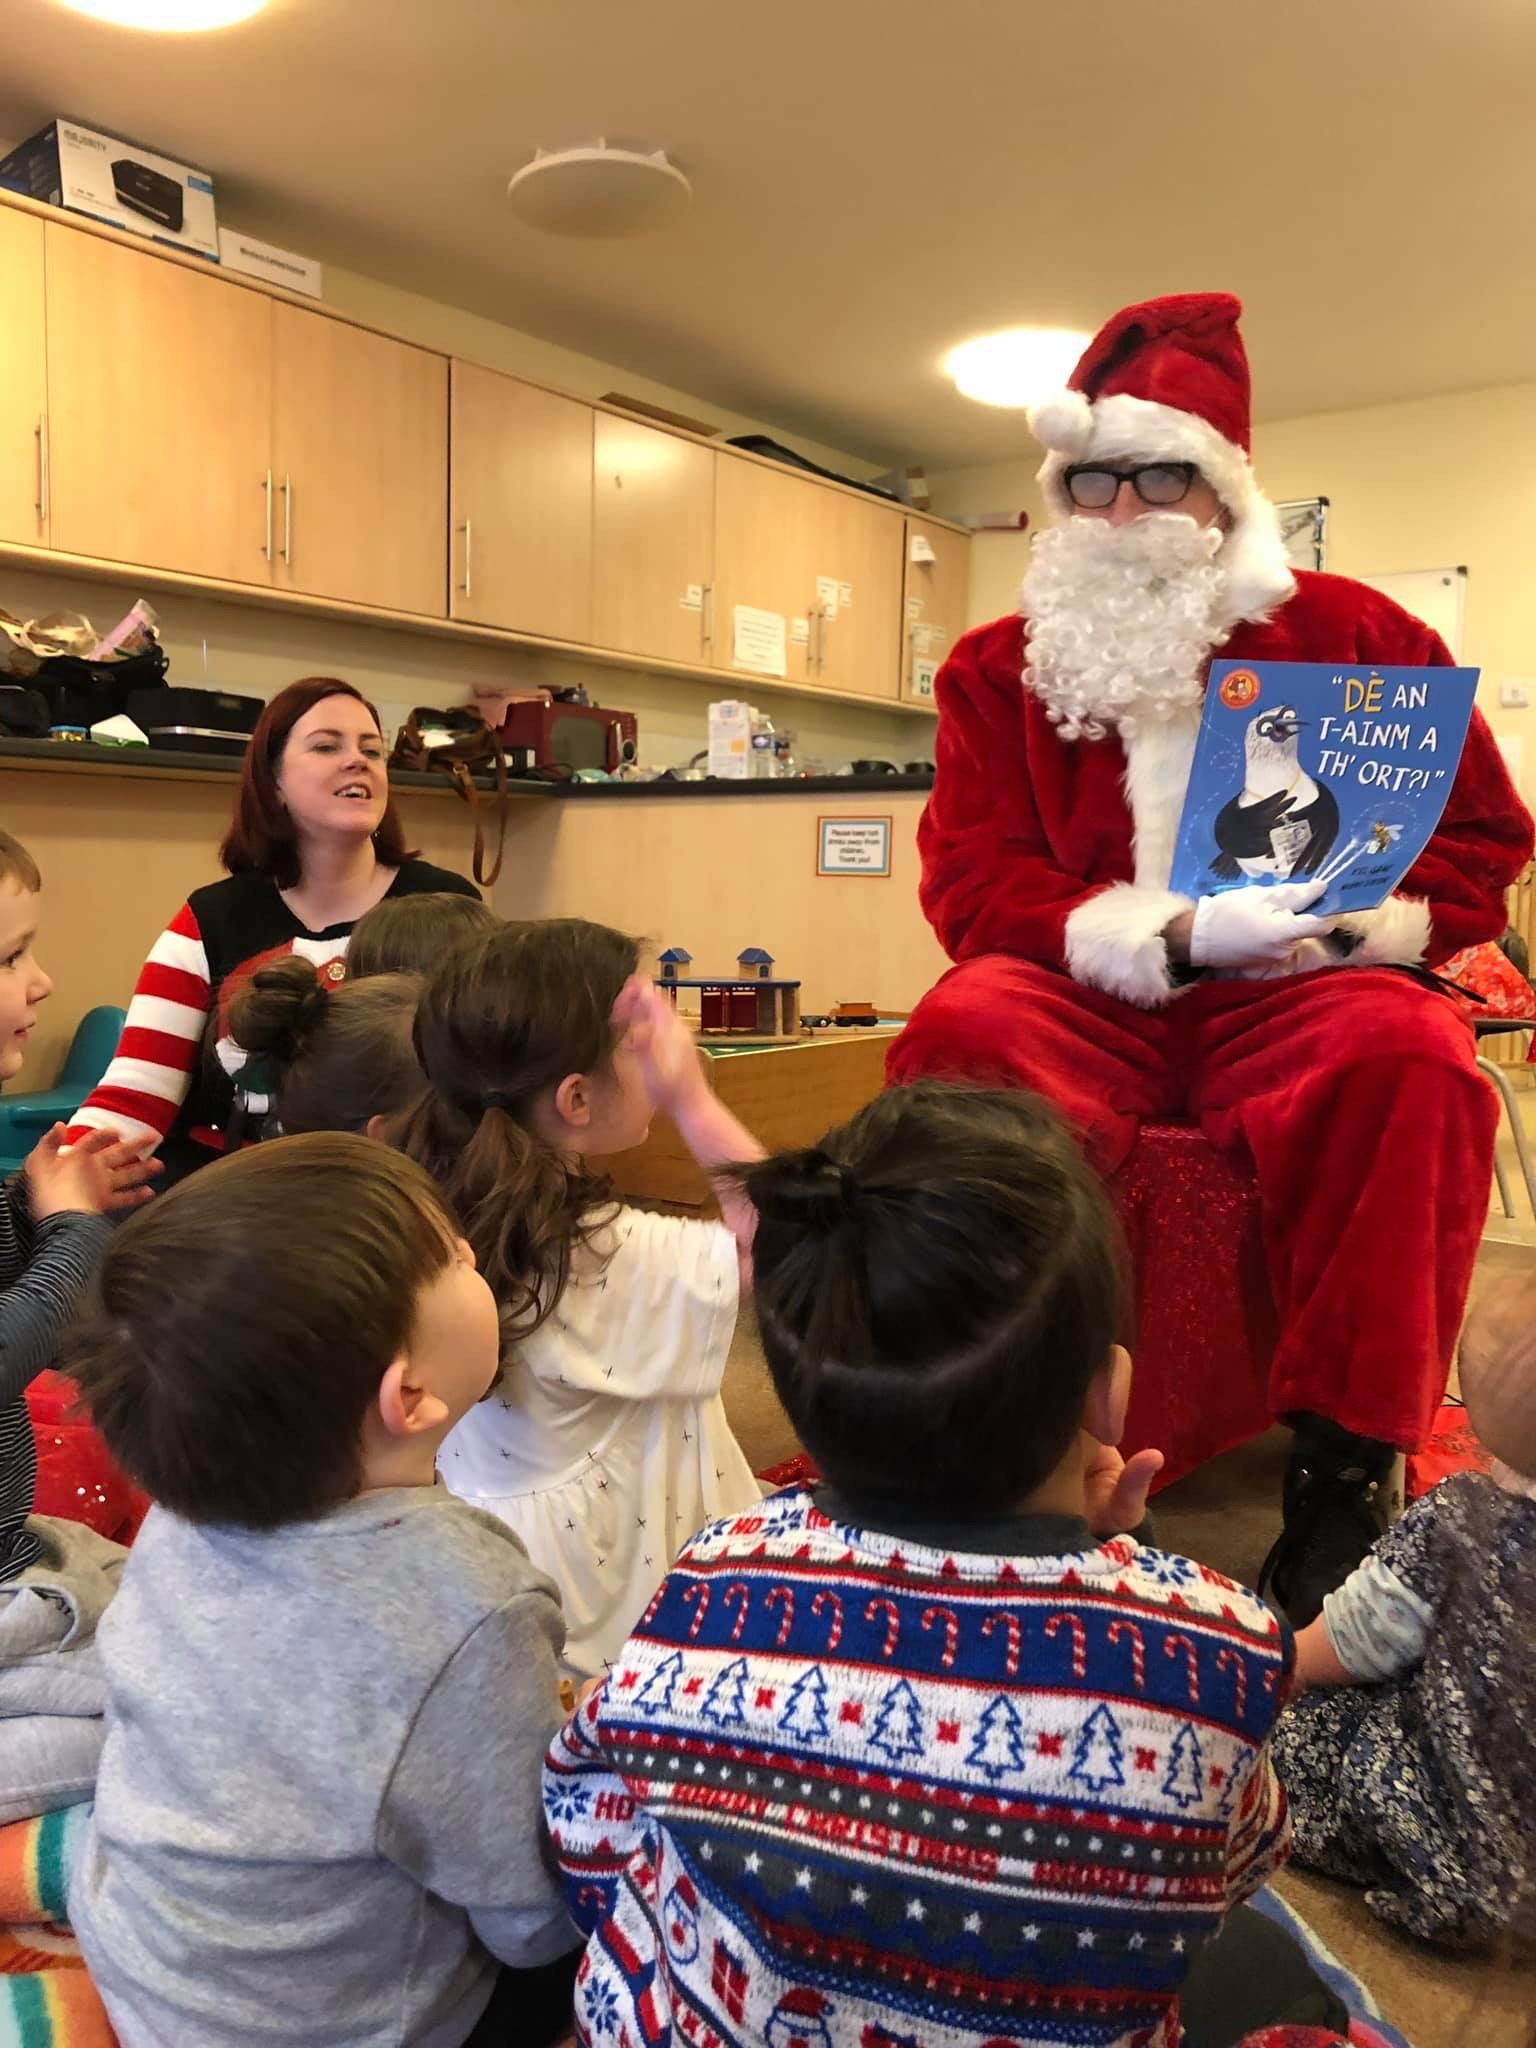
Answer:
[{"label": "blue, white and red Christmas jumper with candy canes and trees", "polygon": [[1128,1540],[948,1554],[803,1491],[713,1524],[549,1753],[580,2038],[1174,2048],[1284,1855],[1288,1663]]}]

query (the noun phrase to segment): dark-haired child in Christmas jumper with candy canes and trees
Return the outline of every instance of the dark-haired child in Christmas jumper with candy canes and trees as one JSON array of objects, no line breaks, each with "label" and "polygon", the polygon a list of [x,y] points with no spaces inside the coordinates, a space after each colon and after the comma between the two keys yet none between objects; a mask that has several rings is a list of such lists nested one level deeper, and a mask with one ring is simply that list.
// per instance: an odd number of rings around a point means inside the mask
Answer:
[{"label": "dark-haired child in Christmas jumper with candy canes and trees", "polygon": [[578,2038],[1180,2042],[1196,1954],[1284,1858],[1292,1645],[1114,1534],[1161,1458],[1104,1448],[1098,1184],[1034,1098],[922,1083],[743,1190],[827,1477],[696,1536],[551,1747]]}]

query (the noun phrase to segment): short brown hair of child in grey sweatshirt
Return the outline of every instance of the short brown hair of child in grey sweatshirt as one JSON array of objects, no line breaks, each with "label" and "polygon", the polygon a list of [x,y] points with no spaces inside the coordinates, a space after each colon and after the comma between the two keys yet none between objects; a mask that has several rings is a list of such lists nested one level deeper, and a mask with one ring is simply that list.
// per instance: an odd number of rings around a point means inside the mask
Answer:
[{"label": "short brown hair of child in grey sweatshirt", "polygon": [[373,1139],[254,1145],[113,1235],[68,1370],[174,1513],[303,1522],[356,1493],[362,1419],[455,1241],[428,1176]]}]

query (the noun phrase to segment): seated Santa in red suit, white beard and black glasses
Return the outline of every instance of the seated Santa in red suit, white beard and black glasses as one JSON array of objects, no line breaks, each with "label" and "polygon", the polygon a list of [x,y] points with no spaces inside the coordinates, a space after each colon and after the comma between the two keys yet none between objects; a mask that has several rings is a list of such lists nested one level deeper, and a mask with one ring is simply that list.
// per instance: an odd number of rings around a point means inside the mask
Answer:
[{"label": "seated Santa in red suit, white beard and black glasses", "polygon": [[889,1071],[1034,1087],[1104,1171],[1163,1116],[1251,1163],[1272,1407],[1296,1432],[1268,1571],[1300,1624],[1380,1532],[1444,1391],[1495,1100],[1425,969],[1503,930],[1532,821],[1475,715],[1380,909],[1315,918],[1317,883],[1169,891],[1212,653],[1450,662],[1378,592],[1292,571],[1249,467],[1239,313],[1223,293],[1126,307],[1030,418],[1059,522],[1022,616],[967,633],[938,678],[922,903],[954,967]]}]

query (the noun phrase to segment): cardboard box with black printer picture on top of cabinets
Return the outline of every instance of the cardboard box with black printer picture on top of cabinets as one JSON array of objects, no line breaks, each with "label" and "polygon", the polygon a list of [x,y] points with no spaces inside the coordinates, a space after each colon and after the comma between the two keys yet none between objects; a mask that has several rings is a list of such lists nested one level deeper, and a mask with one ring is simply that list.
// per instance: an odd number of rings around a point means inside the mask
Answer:
[{"label": "cardboard box with black printer picture on top of cabinets", "polygon": [[205,170],[76,121],[51,121],[18,143],[0,162],[0,186],[219,260],[213,178]]}]

